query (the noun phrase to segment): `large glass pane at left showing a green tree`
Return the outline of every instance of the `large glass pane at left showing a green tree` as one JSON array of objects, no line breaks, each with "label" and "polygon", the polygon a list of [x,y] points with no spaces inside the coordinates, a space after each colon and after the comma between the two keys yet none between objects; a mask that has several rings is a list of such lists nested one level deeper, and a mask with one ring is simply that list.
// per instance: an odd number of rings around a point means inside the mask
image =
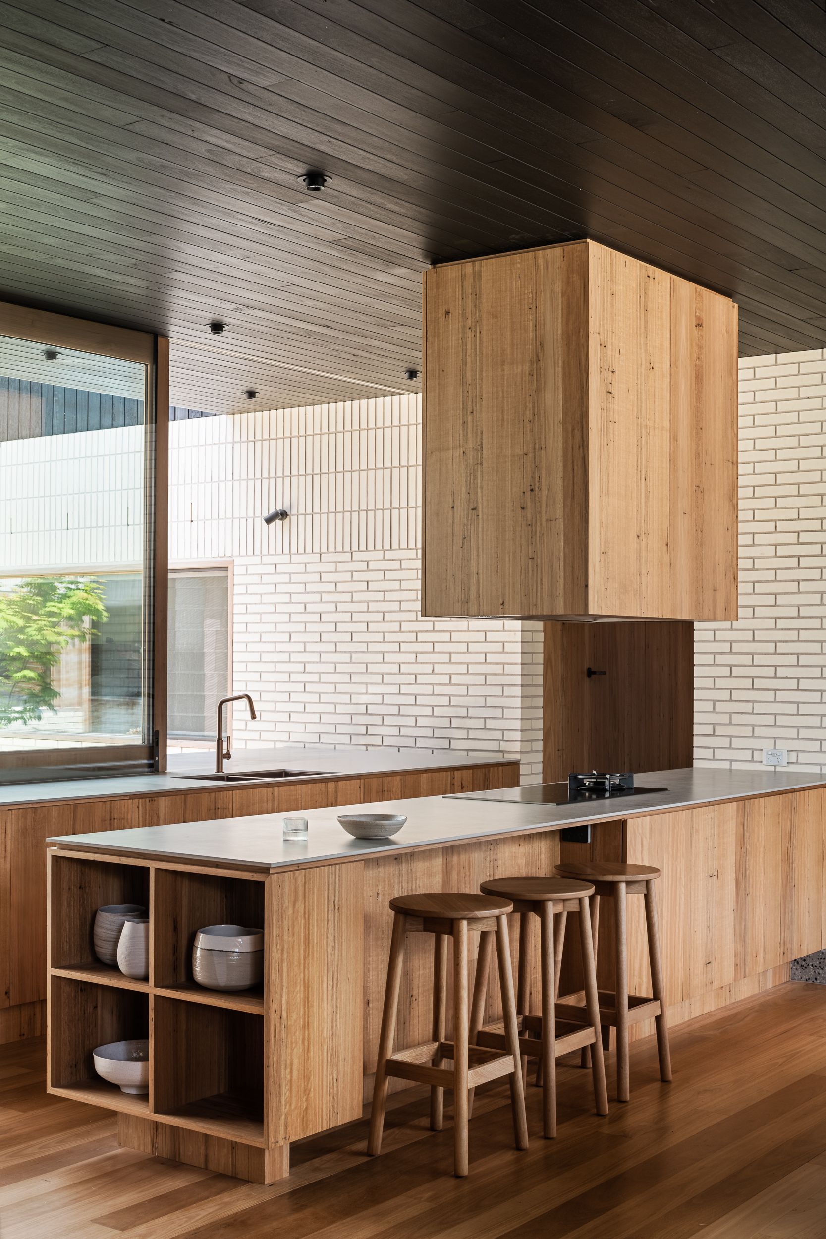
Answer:
[{"label": "large glass pane at left showing a green tree", "polygon": [[149,743],[146,367],[0,336],[0,755]]}]

